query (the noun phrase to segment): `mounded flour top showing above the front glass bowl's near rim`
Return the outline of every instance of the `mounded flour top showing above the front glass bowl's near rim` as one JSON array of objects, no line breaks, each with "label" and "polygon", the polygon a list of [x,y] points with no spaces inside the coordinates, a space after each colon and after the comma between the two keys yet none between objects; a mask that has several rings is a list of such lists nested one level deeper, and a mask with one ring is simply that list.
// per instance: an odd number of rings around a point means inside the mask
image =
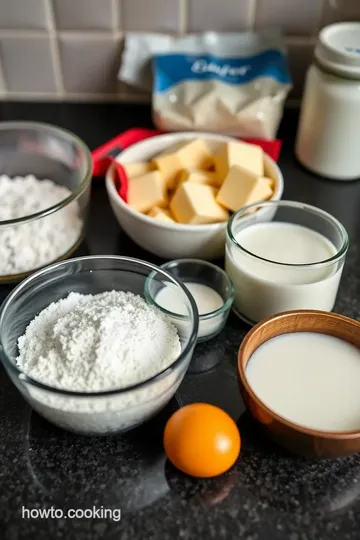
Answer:
[{"label": "mounded flour top showing above the front glass bowl's near rim", "polygon": [[18,340],[18,366],[46,385],[101,392],[144,381],[180,354],[175,326],[130,292],[70,293]]}]

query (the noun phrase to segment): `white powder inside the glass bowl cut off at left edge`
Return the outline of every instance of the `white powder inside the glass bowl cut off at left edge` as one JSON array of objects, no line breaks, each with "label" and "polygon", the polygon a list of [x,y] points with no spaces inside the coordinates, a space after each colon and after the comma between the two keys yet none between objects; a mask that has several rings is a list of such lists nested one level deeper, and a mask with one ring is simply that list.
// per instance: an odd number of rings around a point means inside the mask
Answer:
[{"label": "white powder inside the glass bowl cut off at left edge", "polygon": [[68,188],[52,180],[0,175],[0,275],[45,266],[72,248],[83,225],[76,201],[44,218],[1,227],[1,221],[41,212],[69,195]]}]

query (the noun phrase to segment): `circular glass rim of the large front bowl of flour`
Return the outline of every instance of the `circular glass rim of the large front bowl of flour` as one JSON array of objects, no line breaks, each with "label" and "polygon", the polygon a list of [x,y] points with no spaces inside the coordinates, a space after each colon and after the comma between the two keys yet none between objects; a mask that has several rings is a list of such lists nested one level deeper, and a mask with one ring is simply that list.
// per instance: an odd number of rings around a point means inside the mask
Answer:
[{"label": "circular glass rim of the large front bowl of flour", "polygon": [[[170,279],[175,285],[181,288],[181,290],[185,293],[190,306],[192,308],[193,314],[194,314],[194,320],[193,320],[193,328],[190,334],[190,337],[188,339],[188,343],[186,344],[185,348],[181,351],[181,353],[178,355],[178,357],[165,369],[160,371],[159,373],[156,373],[149,379],[146,379],[144,381],[140,381],[138,383],[125,386],[123,388],[116,388],[111,390],[105,390],[101,392],[77,392],[74,390],[66,390],[62,388],[55,388],[53,386],[49,386],[46,384],[41,383],[40,381],[37,381],[36,379],[33,379],[26,375],[24,371],[19,369],[11,360],[8,358],[8,356],[4,352],[4,348],[2,346],[2,326],[4,324],[4,314],[8,307],[11,305],[11,302],[13,301],[14,297],[18,295],[22,291],[24,287],[26,287],[29,283],[31,284],[31,281],[36,280],[39,277],[43,277],[46,273],[56,270],[59,267],[65,267],[71,264],[78,264],[79,262],[86,262],[86,261],[94,261],[94,260],[116,260],[120,262],[127,262],[127,263],[135,263],[140,264],[140,266],[143,266],[152,272],[159,272],[164,275],[167,279]],[[146,281],[147,278],[145,278]],[[91,294],[91,293],[89,293]],[[51,302],[50,302],[51,303]],[[45,309],[45,308],[44,308]],[[172,276],[170,273],[166,272],[166,270],[163,270],[162,268],[149,263],[147,261],[143,261],[141,259],[136,259],[134,257],[123,257],[121,255],[92,255],[92,256],[86,256],[86,257],[77,257],[74,259],[69,259],[66,261],[57,262],[54,264],[51,264],[49,266],[46,266],[45,268],[39,270],[38,272],[35,272],[34,274],[31,274],[28,278],[24,279],[19,285],[17,285],[13,291],[6,297],[4,300],[1,308],[0,308],[0,359],[6,369],[10,369],[11,372],[15,374],[15,376],[20,379],[21,382],[28,383],[30,386],[35,386],[36,388],[39,388],[41,390],[45,390],[50,393],[59,394],[63,396],[72,396],[74,398],[85,398],[85,397],[106,397],[106,396],[115,396],[119,394],[125,394],[127,392],[139,390],[141,388],[145,388],[147,386],[151,386],[154,382],[158,382],[162,379],[165,379],[170,373],[179,366],[183,359],[189,354],[189,352],[193,349],[193,347],[196,344],[197,340],[197,334],[198,334],[198,326],[199,326],[199,319],[197,317],[197,307],[195,304],[195,301],[192,297],[192,295],[189,293],[189,291],[184,287],[184,285],[176,279],[174,276]]]}]

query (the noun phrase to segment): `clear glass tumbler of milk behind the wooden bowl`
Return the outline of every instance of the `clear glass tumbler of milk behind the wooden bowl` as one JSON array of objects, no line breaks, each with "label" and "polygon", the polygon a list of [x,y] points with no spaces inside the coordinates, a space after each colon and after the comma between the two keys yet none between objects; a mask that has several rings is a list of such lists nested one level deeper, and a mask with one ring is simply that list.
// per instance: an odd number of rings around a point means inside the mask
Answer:
[{"label": "clear glass tumbler of milk behind the wooden bowl", "polygon": [[342,224],[315,206],[269,201],[244,207],[226,235],[235,313],[253,325],[283,311],[331,311],[348,246]]}]

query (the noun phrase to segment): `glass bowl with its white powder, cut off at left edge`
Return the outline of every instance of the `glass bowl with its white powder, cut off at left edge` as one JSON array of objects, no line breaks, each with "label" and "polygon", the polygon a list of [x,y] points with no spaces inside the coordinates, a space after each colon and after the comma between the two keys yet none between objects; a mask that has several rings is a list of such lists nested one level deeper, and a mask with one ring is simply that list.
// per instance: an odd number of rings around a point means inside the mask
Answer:
[{"label": "glass bowl with its white powder, cut off at left edge", "polygon": [[19,281],[79,247],[91,172],[90,151],[72,133],[0,123],[0,283]]}]

